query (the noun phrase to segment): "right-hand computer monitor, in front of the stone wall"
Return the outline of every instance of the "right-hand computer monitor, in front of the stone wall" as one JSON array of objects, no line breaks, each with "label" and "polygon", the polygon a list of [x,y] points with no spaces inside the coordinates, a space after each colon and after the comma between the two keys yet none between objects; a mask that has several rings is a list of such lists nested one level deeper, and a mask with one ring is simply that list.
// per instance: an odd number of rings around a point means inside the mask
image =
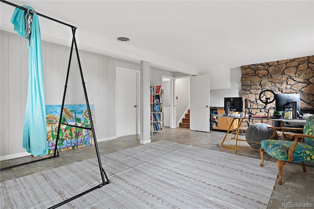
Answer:
[{"label": "right-hand computer monitor, in front of the stone wall", "polygon": [[297,111],[301,111],[300,94],[276,94],[276,111],[292,111],[292,118],[297,118]]}]

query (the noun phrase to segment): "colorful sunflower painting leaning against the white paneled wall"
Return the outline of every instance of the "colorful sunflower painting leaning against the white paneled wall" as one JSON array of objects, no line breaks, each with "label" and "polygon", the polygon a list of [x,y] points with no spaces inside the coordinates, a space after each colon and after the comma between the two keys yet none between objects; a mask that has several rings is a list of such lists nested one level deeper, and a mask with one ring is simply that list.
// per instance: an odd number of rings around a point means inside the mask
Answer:
[{"label": "colorful sunflower painting leaning against the white paneled wall", "polygon": [[[91,128],[90,118],[92,118],[94,129],[96,130],[94,105],[90,105],[90,111],[91,117],[88,114],[86,104],[64,105],[61,118],[62,124],[59,131],[59,140],[57,142],[57,149],[59,151],[94,144],[92,131],[79,128]],[[60,112],[61,105],[46,105],[48,153],[54,152],[55,149]],[[70,125],[74,125],[76,127],[72,127]]]}]

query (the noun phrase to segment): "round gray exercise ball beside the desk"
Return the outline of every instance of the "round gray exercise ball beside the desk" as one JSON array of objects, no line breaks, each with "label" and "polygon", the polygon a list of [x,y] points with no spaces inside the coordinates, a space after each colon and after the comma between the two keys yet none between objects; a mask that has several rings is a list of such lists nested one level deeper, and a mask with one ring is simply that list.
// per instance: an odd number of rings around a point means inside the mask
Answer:
[{"label": "round gray exercise ball beside the desk", "polygon": [[[250,125],[245,131],[245,139],[247,143],[256,150],[261,148],[261,144],[257,144],[256,142],[261,142],[262,140],[269,139],[273,134],[273,129],[267,129],[267,127],[271,127],[265,123],[256,123]],[[278,139],[276,134],[275,139]]]}]

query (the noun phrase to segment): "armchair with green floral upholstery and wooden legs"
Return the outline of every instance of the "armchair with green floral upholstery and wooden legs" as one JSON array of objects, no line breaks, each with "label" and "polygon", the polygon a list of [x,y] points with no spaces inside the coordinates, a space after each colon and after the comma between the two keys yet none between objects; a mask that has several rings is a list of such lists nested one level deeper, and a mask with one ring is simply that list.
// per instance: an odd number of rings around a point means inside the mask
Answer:
[{"label": "armchair with green floral upholstery and wooden legs", "polygon": [[[272,127],[270,127],[272,128]],[[274,127],[275,128],[275,127]],[[277,129],[282,129],[278,128]],[[289,129],[289,128],[288,128]],[[276,132],[276,129],[274,130]],[[260,154],[264,164],[264,151],[277,158],[277,166],[279,170],[279,181],[282,183],[283,166],[286,162],[301,162],[303,171],[305,169],[305,162],[314,161],[314,115],[309,117],[304,125],[303,134],[293,134],[294,141],[268,139],[261,141]]]}]

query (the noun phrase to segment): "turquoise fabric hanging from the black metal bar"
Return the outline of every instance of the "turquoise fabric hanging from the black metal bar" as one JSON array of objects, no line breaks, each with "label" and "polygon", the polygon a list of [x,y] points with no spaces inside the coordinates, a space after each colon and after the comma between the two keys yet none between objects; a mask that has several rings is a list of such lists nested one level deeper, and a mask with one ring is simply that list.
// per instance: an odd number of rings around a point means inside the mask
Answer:
[{"label": "turquoise fabric hanging from the black metal bar", "polygon": [[[29,10],[30,6],[23,5]],[[15,8],[11,23],[14,29],[22,37],[26,34],[27,11]],[[28,36],[28,94],[25,110],[23,148],[33,156],[48,154],[47,126],[46,126],[46,103],[43,76],[43,59],[41,51],[41,35],[36,13],[32,14],[32,24]]]}]

